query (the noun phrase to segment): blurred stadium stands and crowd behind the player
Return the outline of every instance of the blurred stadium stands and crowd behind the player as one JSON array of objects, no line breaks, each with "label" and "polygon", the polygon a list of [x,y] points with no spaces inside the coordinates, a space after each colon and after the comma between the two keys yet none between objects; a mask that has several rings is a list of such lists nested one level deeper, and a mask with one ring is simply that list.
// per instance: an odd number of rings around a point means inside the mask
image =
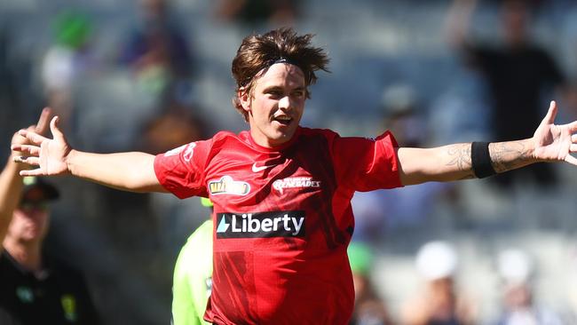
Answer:
[{"label": "blurred stadium stands and crowd behind the player", "polygon": [[[332,59],[306,126],[390,129],[401,146],[433,147],[531,137],[550,99],[557,123],[577,118],[571,0],[0,0],[0,157],[48,105],[83,151],[158,154],[247,129],[230,64],[243,36],[281,26],[315,34]],[[448,308],[460,323],[497,323],[512,304],[576,324],[575,181],[559,163],[355,195],[360,272],[392,322]],[[87,273],[106,323],[168,323],[178,250],[209,210],[55,182],[51,250]],[[437,301],[426,297],[439,279],[447,304],[418,305]]]}]

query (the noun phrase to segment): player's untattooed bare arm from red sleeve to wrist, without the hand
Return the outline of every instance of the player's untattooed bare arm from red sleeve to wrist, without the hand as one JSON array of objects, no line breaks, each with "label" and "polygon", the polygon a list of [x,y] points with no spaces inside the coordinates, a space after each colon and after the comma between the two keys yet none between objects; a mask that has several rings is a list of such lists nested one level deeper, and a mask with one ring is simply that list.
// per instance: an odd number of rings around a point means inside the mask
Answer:
[{"label": "player's untattooed bare arm from red sleeve to wrist, without the hand", "polygon": [[154,155],[91,154],[72,150],[67,167],[76,177],[130,192],[164,192],[154,174]]}]

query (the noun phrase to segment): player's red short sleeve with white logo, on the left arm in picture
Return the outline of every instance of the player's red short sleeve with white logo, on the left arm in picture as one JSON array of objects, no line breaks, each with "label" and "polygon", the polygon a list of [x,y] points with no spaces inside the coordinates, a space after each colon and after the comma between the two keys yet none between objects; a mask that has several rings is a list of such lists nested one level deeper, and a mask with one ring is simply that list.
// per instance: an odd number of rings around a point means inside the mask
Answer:
[{"label": "player's red short sleeve with white logo, on the left arm in picture", "polygon": [[154,173],[161,185],[180,199],[207,196],[204,170],[212,140],[191,142],[154,157]]}]

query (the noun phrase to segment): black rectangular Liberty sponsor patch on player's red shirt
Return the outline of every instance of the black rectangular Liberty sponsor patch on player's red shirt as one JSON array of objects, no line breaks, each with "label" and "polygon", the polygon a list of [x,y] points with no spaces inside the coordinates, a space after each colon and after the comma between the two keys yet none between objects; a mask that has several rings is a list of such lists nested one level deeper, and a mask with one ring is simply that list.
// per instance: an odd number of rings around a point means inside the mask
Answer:
[{"label": "black rectangular Liberty sponsor patch on player's red shirt", "polygon": [[217,238],[303,238],[304,218],[304,211],[218,213]]}]

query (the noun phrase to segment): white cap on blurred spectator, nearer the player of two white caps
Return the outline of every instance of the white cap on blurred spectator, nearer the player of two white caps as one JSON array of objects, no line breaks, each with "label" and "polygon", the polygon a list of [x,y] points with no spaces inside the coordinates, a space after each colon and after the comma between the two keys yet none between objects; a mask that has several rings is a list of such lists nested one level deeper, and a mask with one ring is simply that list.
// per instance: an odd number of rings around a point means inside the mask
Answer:
[{"label": "white cap on blurred spectator, nearer the player of two white caps", "polygon": [[450,278],[457,268],[457,254],[448,242],[427,242],[416,256],[416,269],[428,281]]}]

